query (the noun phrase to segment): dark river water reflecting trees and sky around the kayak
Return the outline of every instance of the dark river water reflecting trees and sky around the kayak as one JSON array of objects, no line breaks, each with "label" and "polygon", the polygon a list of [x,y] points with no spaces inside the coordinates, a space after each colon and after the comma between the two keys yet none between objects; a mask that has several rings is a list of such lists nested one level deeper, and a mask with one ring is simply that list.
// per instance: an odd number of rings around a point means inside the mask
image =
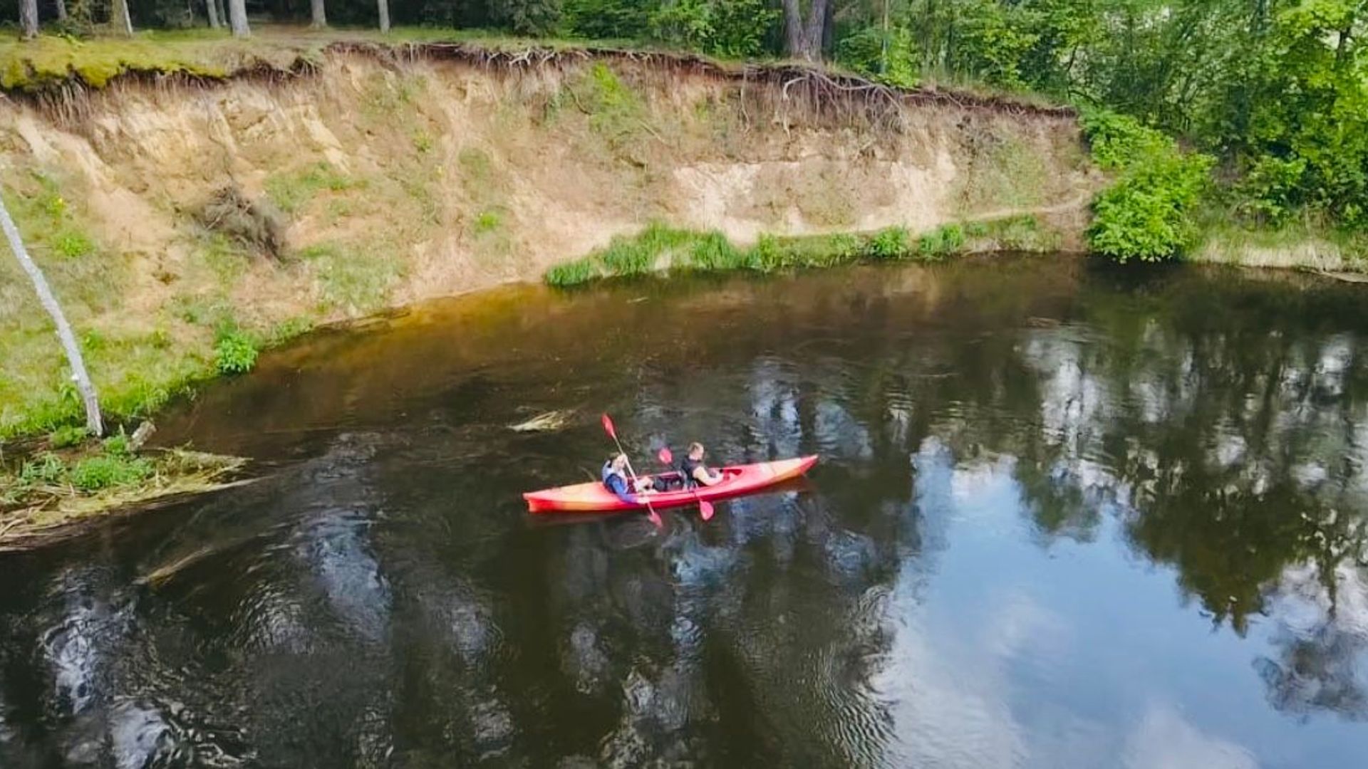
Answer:
[{"label": "dark river water reflecting trees and sky around the kayak", "polygon": [[[1365,301],[1001,260],[315,335],[161,419],[259,482],[0,556],[0,766],[1364,766]],[[528,516],[601,410],[822,464]]]}]

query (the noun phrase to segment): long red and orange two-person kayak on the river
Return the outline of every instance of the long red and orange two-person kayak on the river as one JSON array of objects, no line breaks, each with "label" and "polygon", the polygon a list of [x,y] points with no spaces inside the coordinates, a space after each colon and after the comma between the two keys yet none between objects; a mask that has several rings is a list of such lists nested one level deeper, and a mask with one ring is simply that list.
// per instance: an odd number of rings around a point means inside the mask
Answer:
[{"label": "long red and orange two-person kayak on the river", "polygon": [[[644,510],[646,499],[657,509],[680,508],[698,504],[699,499],[725,499],[751,494],[798,478],[817,464],[817,457],[799,457],[796,460],[776,460],[773,462],[758,462],[754,465],[736,465],[721,468],[722,482],[715,486],[699,486],[692,490],[657,491],[654,494],[637,494],[635,502],[624,502],[602,483],[576,483],[575,486],[560,486],[543,491],[528,491],[523,494],[527,499],[527,509],[534,513],[606,513],[616,510]],[[662,478],[677,476],[679,473],[662,473]],[[654,476],[643,476],[654,478]]]}]

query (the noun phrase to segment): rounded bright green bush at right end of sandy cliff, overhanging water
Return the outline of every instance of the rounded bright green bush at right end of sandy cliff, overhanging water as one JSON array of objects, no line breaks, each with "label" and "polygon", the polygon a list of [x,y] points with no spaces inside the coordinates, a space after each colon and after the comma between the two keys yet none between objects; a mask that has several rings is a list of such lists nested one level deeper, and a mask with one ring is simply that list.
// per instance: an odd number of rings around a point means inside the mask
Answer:
[{"label": "rounded bright green bush at right end of sandy cliff, overhanging water", "polygon": [[1213,159],[1185,155],[1172,140],[1120,115],[1086,115],[1083,130],[1094,161],[1120,174],[1093,201],[1093,252],[1122,263],[1181,256],[1197,238],[1193,215]]}]

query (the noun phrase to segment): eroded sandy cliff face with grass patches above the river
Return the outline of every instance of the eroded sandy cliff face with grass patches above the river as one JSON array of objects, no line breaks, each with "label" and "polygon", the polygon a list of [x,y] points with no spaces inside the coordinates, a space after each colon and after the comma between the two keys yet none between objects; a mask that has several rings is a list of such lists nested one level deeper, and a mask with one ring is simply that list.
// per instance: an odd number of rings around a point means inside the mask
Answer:
[{"label": "eroded sandy cliff face with grass patches above the river", "polygon": [[[1064,111],[575,52],[332,49],[14,100],[0,161],[78,324],[135,350],[536,279],[654,220],[748,241],[1034,212],[1077,244],[1100,183]],[[275,257],[205,213],[230,189],[278,212]],[[3,270],[0,324],[31,323]]]}]

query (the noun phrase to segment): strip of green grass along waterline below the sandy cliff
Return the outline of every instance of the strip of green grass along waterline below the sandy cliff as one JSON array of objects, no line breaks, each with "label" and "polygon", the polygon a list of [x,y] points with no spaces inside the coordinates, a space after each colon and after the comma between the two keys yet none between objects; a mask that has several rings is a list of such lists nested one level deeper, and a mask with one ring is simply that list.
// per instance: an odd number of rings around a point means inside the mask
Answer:
[{"label": "strip of green grass along waterline below the sandy cliff", "polygon": [[606,248],[588,256],[551,267],[544,279],[551,286],[566,287],[659,270],[776,272],[854,261],[933,263],[959,253],[1044,252],[1059,245],[1059,233],[1029,215],[945,224],[922,234],[912,234],[906,227],[888,227],[865,234],[762,235],[748,248],[732,244],[718,231],[680,230],[655,223],[636,235],[613,238]]}]

